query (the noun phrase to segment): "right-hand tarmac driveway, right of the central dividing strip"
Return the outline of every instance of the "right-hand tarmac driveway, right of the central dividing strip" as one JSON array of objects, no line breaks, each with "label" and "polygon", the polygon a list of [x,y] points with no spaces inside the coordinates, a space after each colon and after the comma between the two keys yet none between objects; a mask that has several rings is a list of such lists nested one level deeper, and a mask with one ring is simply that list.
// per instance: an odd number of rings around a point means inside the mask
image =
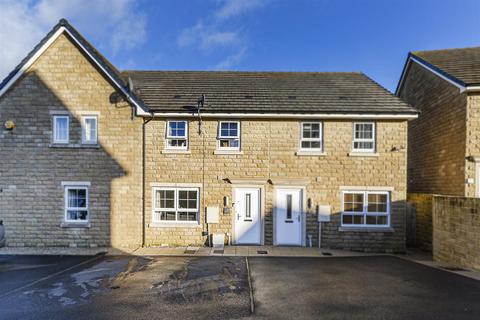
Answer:
[{"label": "right-hand tarmac driveway, right of the central dividing strip", "polygon": [[249,258],[269,319],[480,319],[480,281],[393,256]]}]

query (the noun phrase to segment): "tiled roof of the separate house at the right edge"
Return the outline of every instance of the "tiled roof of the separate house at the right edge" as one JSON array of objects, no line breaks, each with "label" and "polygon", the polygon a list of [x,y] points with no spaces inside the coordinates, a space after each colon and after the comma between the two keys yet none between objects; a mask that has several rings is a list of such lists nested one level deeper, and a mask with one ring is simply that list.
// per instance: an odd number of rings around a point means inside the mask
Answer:
[{"label": "tiled roof of the separate house at the right edge", "polygon": [[480,84],[480,47],[416,51],[412,55],[447,73],[463,86]]}]

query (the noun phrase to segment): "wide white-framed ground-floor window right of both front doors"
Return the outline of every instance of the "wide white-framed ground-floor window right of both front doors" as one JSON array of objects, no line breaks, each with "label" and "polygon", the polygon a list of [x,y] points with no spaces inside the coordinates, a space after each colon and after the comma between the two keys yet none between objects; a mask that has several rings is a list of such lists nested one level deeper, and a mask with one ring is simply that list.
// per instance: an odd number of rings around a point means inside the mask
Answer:
[{"label": "wide white-framed ground-floor window right of both front doors", "polygon": [[385,191],[343,191],[343,227],[388,227],[390,193]]}]

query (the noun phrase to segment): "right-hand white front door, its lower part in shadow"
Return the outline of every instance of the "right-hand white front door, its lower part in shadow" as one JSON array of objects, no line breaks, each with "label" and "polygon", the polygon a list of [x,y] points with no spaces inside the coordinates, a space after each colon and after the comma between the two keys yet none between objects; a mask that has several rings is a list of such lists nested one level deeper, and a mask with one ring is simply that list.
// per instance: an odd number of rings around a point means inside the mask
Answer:
[{"label": "right-hand white front door, its lower part in shadow", "polygon": [[302,189],[277,189],[275,194],[275,245],[302,245]]}]

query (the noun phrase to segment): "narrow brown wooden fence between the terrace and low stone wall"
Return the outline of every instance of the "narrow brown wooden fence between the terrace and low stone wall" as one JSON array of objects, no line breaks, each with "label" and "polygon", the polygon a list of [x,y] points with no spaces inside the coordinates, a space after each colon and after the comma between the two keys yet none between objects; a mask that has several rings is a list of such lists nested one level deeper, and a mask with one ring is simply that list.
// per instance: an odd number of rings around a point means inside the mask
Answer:
[{"label": "narrow brown wooden fence between the terrace and low stone wall", "polygon": [[[415,219],[415,246],[432,251],[432,203],[433,195],[408,193],[407,201],[412,204]],[[408,223],[408,222],[407,222]]]}]

